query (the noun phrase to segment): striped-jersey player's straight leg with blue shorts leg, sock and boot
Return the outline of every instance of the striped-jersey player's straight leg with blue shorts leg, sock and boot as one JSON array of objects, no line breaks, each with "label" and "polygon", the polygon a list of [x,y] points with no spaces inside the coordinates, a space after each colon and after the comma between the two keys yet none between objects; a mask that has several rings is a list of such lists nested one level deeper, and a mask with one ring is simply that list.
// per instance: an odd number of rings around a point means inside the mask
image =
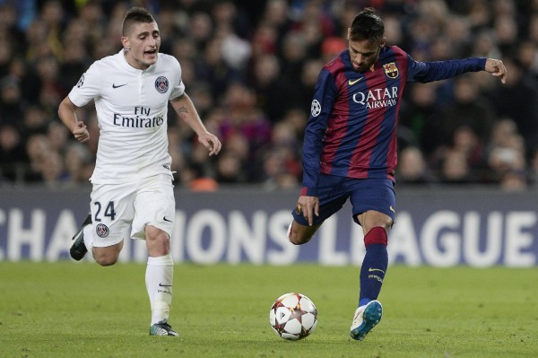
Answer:
[{"label": "striped-jersey player's straight leg with blue shorts leg, sock and boot", "polygon": [[[350,335],[362,340],[379,323],[383,307],[377,301],[386,275],[387,234],[394,223],[395,194],[389,180],[369,180],[351,195],[356,223],[364,232],[366,255],[360,267],[359,307],[355,310]],[[364,184],[364,183],[361,183]]]}]

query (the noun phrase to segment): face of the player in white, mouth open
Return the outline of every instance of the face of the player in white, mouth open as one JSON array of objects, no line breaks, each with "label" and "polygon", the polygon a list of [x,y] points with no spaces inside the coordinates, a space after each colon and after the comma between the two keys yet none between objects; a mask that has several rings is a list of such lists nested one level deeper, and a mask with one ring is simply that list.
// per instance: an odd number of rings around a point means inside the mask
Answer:
[{"label": "face of the player in white, mouth open", "polygon": [[131,33],[122,38],[129,65],[145,70],[157,62],[157,54],[161,47],[161,34],[155,22],[139,22],[134,24]]}]

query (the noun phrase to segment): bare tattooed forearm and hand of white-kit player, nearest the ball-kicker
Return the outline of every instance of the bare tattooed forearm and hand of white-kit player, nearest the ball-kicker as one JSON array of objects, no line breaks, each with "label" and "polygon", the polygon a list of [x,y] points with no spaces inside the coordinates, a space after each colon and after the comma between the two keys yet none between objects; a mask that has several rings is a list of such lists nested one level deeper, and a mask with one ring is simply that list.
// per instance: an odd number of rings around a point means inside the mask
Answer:
[{"label": "bare tattooed forearm and hand of white-kit player, nearest the ball-kicker", "polygon": [[207,131],[204,123],[202,123],[202,119],[198,116],[195,104],[188,97],[187,93],[183,92],[180,96],[170,100],[170,103],[172,108],[178,113],[178,117],[195,131],[198,141],[207,148],[209,155],[216,155],[221,152],[221,141],[216,135]]}]

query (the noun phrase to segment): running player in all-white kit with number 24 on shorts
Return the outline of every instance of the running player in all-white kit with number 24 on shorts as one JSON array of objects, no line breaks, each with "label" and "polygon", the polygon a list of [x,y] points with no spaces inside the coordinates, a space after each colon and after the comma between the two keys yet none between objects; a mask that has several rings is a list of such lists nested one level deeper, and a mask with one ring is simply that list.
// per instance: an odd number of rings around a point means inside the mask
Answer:
[{"label": "running player in all-white kit with number 24 on shorts", "polygon": [[100,127],[91,175],[91,214],[74,235],[71,256],[90,252],[101,266],[114,265],[126,238],[146,241],[146,288],[152,309],[151,336],[178,336],[168,323],[173,265],[170,237],[175,200],[168,153],[168,102],[195,131],[209,155],[221,151],[181,81],[175,57],[159,53],[159,27],[146,9],[126,13],[116,55],[94,62],[58,108],[74,137],[89,133],[76,109],[94,100]]}]

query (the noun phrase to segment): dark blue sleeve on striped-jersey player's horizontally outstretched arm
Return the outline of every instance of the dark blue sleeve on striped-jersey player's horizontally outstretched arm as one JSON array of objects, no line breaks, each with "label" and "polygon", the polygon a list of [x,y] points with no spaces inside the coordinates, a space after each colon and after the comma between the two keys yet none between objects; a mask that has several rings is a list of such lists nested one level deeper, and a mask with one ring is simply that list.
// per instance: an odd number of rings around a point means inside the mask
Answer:
[{"label": "dark blue sleeve on striped-jersey player's horizontally outstretched arm", "polygon": [[466,72],[483,71],[486,65],[485,57],[471,57],[446,61],[420,62],[408,57],[408,82],[429,83],[447,80]]}]

